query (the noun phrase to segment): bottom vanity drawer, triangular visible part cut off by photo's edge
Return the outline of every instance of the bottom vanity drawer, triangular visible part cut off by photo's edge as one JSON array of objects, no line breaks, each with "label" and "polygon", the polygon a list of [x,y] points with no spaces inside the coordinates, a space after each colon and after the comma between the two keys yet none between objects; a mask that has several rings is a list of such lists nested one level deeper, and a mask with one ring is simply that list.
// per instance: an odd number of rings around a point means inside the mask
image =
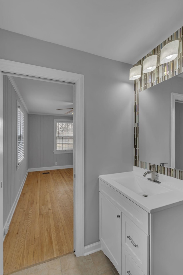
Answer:
[{"label": "bottom vanity drawer, triangular visible part cut off by photo's edge", "polygon": [[[127,273],[128,272],[128,273]],[[132,257],[122,246],[122,275],[144,275]]]}]

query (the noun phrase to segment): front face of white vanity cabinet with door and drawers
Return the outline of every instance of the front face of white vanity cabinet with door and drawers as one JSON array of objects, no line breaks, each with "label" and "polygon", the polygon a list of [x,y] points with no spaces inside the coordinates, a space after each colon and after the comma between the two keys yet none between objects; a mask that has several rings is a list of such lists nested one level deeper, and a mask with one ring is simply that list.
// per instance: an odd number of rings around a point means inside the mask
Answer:
[{"label": "front face of white vanity cabinet with door and drawers", "polygon": [[[149,275],[148,213],[100,180],[100,241],[120,275],[132,269]],[[122,252],[123,251],[123,252]],[[126,263],[122,266],[122,262]],[[136,275],[132,272],[129,275]],[[127,274],[127,273],[126,273]],[[137,273],[141,275],[140,271]]]}]

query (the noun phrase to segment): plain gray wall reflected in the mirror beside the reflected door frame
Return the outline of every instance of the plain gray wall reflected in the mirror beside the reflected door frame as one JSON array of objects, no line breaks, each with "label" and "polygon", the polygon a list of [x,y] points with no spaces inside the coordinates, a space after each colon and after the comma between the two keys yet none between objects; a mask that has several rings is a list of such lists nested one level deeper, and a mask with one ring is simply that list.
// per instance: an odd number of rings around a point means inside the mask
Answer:
[{"label": "plain gray wall reflected in the mirror beside the reflected door frame", "polygon": [[183,93],[183,78],[175,76],[139,93],[140,161],[171,165],[171,93]]}]

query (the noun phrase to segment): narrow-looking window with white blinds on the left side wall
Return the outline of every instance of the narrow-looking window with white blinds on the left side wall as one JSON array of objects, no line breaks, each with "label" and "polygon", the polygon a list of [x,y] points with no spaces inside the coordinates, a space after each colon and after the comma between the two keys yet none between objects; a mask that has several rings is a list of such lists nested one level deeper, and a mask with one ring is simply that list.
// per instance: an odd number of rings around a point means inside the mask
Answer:
[{"label": "narrow-looking window with white blinds on the left side wall", "polygon": [[24,159],[24,114],[17,102],[17,166]]}]

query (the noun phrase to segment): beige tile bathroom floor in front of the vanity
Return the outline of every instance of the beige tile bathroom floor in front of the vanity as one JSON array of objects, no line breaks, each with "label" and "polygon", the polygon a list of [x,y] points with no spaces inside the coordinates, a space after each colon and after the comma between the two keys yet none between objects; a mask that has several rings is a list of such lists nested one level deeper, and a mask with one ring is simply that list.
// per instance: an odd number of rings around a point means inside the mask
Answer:
[{"label": "beige tile bathroom floor in front of the vanity", "polygon": [[101,250],[85,257],[75,257],[72,253],[13,275],[119,275],[119,273]]}]

